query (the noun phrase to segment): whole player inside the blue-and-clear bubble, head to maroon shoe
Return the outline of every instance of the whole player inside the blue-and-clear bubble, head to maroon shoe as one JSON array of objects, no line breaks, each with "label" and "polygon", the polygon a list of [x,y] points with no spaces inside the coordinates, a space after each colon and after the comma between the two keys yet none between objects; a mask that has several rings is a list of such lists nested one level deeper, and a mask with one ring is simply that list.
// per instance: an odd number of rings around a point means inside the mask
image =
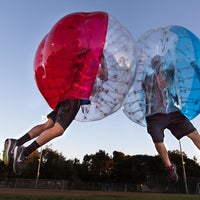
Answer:
[{"label": "whole player inside the blue-and-clear bubble, head to maroon shoe", "polygon": [[189,137],[198,149],[200,135],[193,124],[174,106],[176,98],[170,94],[174,68],[170,66],[164,70],[164,64],[162,56],[156,55],[152,58],[151,72],[144,78],[142,87],[146,97],[147,132],[167,168],[169,180],[175,183],[178,181],[176,165],[170,161],[165,147],[164,130],[169,129],[178,140],[184,136]]}]

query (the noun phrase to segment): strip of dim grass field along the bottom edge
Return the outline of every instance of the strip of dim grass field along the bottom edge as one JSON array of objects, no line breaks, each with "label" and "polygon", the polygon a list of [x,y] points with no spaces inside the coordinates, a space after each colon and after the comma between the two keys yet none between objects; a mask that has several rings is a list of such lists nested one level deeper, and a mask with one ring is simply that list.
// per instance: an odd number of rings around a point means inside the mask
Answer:
[{"label": "strip of dim grass field along the bottom edge", "polygon": [[3,188],[0,200],[200,200],[200,195]]}]

